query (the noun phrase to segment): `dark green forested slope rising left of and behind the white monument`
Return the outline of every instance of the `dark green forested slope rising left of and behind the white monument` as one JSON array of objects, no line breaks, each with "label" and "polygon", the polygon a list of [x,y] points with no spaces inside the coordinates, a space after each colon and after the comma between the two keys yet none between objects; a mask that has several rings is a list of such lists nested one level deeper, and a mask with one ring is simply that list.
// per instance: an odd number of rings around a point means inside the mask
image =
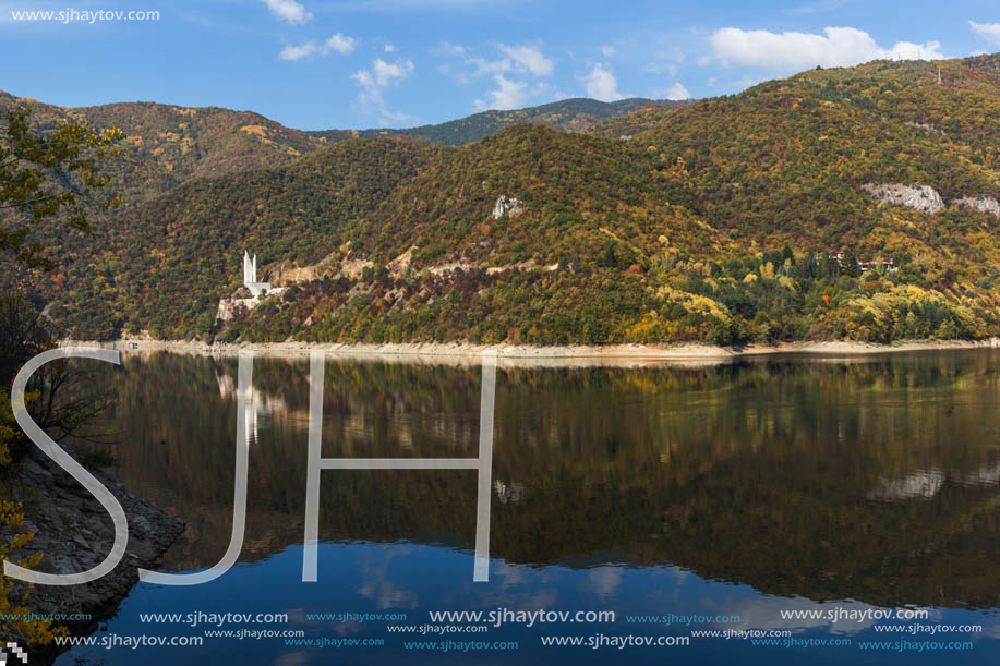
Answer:
[{"label": "dark green forested slope rising left of and behind the white monument", "polygon": [[165,337],[208,330],[219,296],[242,279],[232,257],[249,247],[262,264],[322,258],[341,243],[332,226],[371,213],[441,149],[342,142],[277,169],[192,179],[98,218],[92,235],[49,241],[64,270],[47,279],[67,296],[51,313],[86,337],[122,326]]}]

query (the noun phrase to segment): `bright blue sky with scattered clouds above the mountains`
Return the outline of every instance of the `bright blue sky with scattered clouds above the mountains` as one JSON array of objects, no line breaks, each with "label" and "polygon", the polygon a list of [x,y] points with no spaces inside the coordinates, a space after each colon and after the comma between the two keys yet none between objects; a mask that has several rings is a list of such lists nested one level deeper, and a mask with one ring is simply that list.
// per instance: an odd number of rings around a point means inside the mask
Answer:
[{"label": "bright blue sky with scattered clouds above the mountains", "polygon": [[[87,14],[142,11],[159,17]],[[996,0],[0,0],[0,89],[248,109],[306,130],[708,97],[817,64],[992,51]]]}]

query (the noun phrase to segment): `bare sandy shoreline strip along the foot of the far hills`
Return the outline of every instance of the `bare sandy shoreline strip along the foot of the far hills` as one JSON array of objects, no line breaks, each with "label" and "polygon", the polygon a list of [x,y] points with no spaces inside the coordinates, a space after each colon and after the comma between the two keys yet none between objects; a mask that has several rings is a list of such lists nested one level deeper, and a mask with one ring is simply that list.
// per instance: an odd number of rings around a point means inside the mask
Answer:
[{"label": "bare sandy shoreline strip along the foot of the far hills", "polygon": [[113,349],[120,352],[152,353],[167,351],[197,355],[234,355],[242,351],[277,356],[301,356],[323,351],[332,356],[394,362],[481,362],[483,352],[495,351],[505,365],[622,365],[655,362],[685,364],[726,363],[743,359],[772,355],[817,358],[870,356],[896,352],[973,350],[1000,348],[1000,338],[985,340],[903,340],[890,344],[847,341],[780,342],[715,347],[712,344],[610,344],[610,346],[525,346],[472,344],[463,342],[391,342],[325,343],[325,342],[243,342],[215,343],[190,340],[121,339],[110,341],[63,340],[60,347],[84,346]]}]

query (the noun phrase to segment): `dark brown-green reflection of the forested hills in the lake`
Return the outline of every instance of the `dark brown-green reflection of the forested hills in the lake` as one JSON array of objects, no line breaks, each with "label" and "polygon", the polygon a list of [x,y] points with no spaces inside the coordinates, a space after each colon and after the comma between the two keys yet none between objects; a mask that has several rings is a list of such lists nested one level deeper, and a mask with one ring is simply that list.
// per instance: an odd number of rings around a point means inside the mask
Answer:
[{"label": "dark brown-green reflection of the forested hills in the lake", "polygon": [[[502,371],[492,555],[671,562],[816,601],[998,606],[998,368],[984,351]],[[176,568],[212,565],[228,543],[236,370],[159,354],[108,375],[115,429],[130,434],[120,474],[192,525]],[[478,368],[326,372],[324,456],[475,456]],[[308,375],[306,360],[254,363],[244,560],[302,541]],[[474,494],[465,471],[324,472],[321,536],[470,548]]]}]

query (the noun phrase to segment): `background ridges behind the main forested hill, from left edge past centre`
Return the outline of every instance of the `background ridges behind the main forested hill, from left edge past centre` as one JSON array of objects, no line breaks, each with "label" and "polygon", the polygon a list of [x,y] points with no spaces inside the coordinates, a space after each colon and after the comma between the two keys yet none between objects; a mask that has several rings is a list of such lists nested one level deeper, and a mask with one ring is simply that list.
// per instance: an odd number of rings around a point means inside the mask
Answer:
[{"label": "background ridges behind the main forested hill, from left edge past centre", "polygon": [[118,193],[125,206],[168,192],[190,178],[280,167],[328,143],[348,138],[398,136],[461,145],[516,124],[537,123],[579,132],[636,109],[673,109],[686,104],[689,102],[566,99],[527,109],[485,111],[438,125],[407,130],[305,132],[251,111],[145,101],[68,108],[0,90],[0,110],[15,105],[29,109],[38,131],[70,121],[122,130],[128,137],[122,155],[108,162],[107,173],[111,177],[109,190]]}]

